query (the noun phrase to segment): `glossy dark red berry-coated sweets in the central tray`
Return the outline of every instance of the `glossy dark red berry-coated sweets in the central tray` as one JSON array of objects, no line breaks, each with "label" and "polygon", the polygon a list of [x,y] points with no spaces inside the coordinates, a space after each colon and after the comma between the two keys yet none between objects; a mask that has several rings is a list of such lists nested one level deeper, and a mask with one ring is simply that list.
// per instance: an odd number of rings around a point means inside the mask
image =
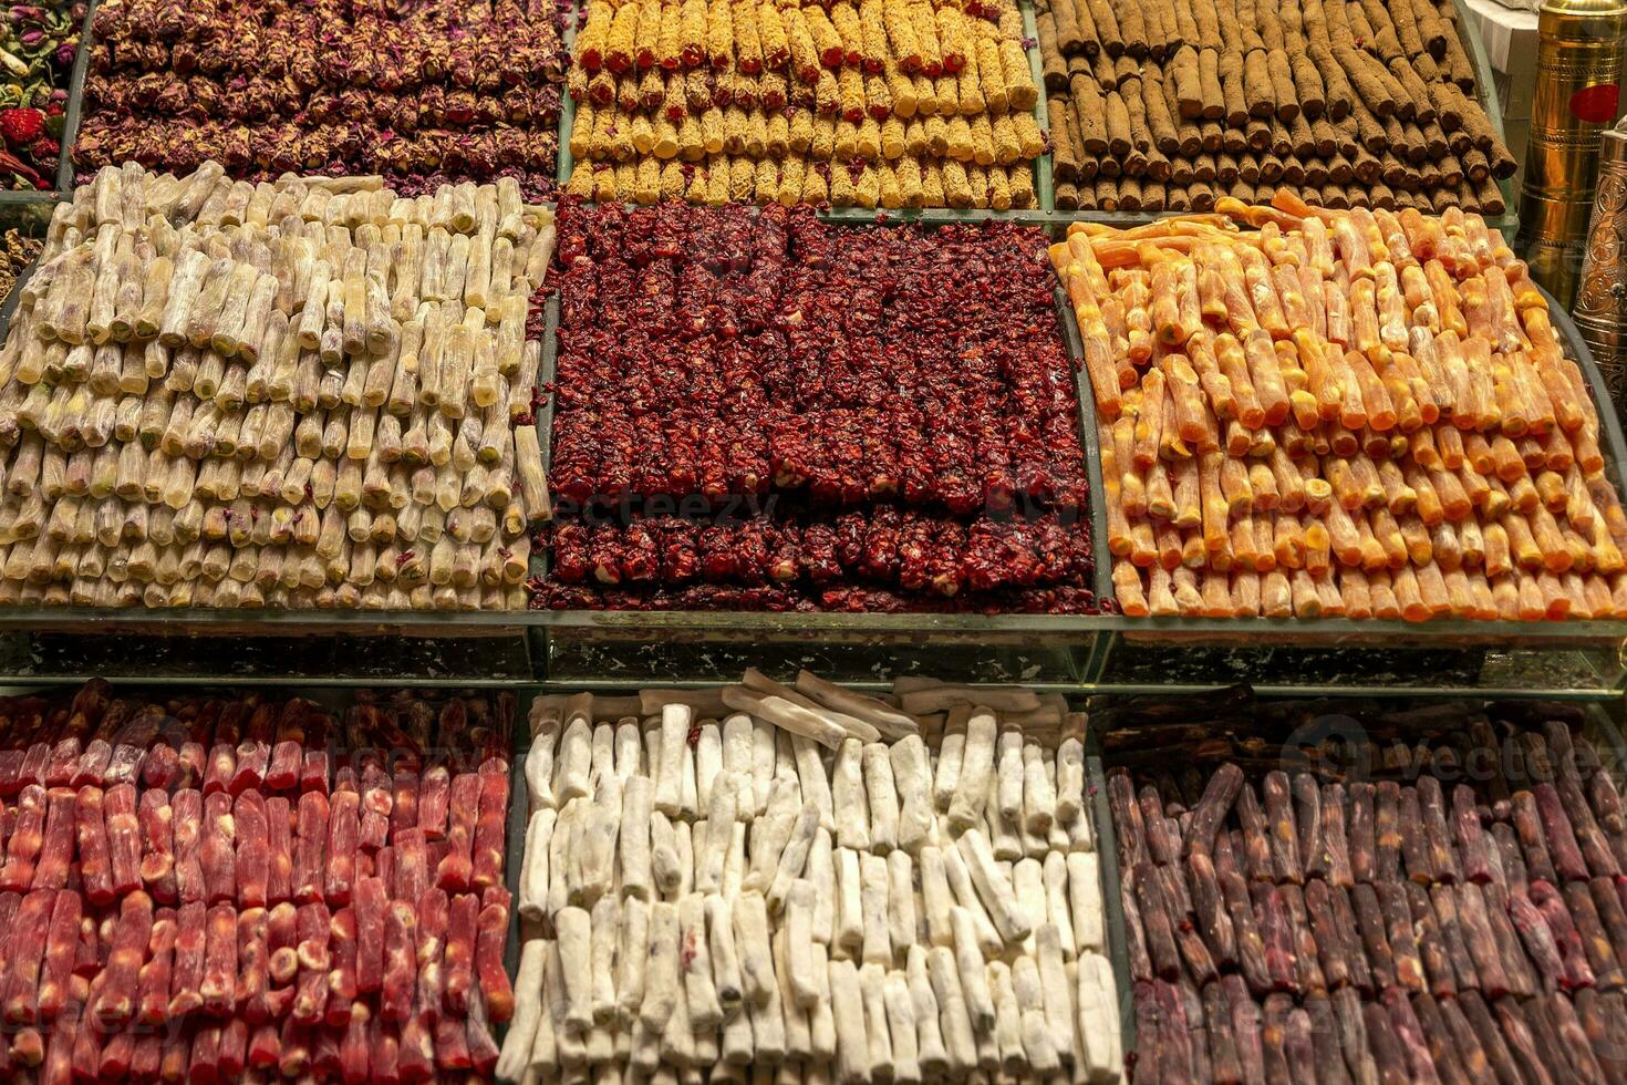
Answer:
[{"label": "glossy dark red berry-coated sweets in the central tray", "polygon": [[1043,236],[566,203],[539,607],[1095,607]]}]

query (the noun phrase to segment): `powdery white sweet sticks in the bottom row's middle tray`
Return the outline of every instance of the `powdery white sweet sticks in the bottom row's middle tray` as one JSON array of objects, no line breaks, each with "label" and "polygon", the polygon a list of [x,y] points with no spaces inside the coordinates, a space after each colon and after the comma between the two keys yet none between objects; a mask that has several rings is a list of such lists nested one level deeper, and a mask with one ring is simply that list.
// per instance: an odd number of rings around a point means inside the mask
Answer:
[{"label": "powdery white sweet sticks in the bottom row's middle tray", "polygon": [[1116,1082],[1084,717],[900,682],[545,696],[498,1078]]}]

